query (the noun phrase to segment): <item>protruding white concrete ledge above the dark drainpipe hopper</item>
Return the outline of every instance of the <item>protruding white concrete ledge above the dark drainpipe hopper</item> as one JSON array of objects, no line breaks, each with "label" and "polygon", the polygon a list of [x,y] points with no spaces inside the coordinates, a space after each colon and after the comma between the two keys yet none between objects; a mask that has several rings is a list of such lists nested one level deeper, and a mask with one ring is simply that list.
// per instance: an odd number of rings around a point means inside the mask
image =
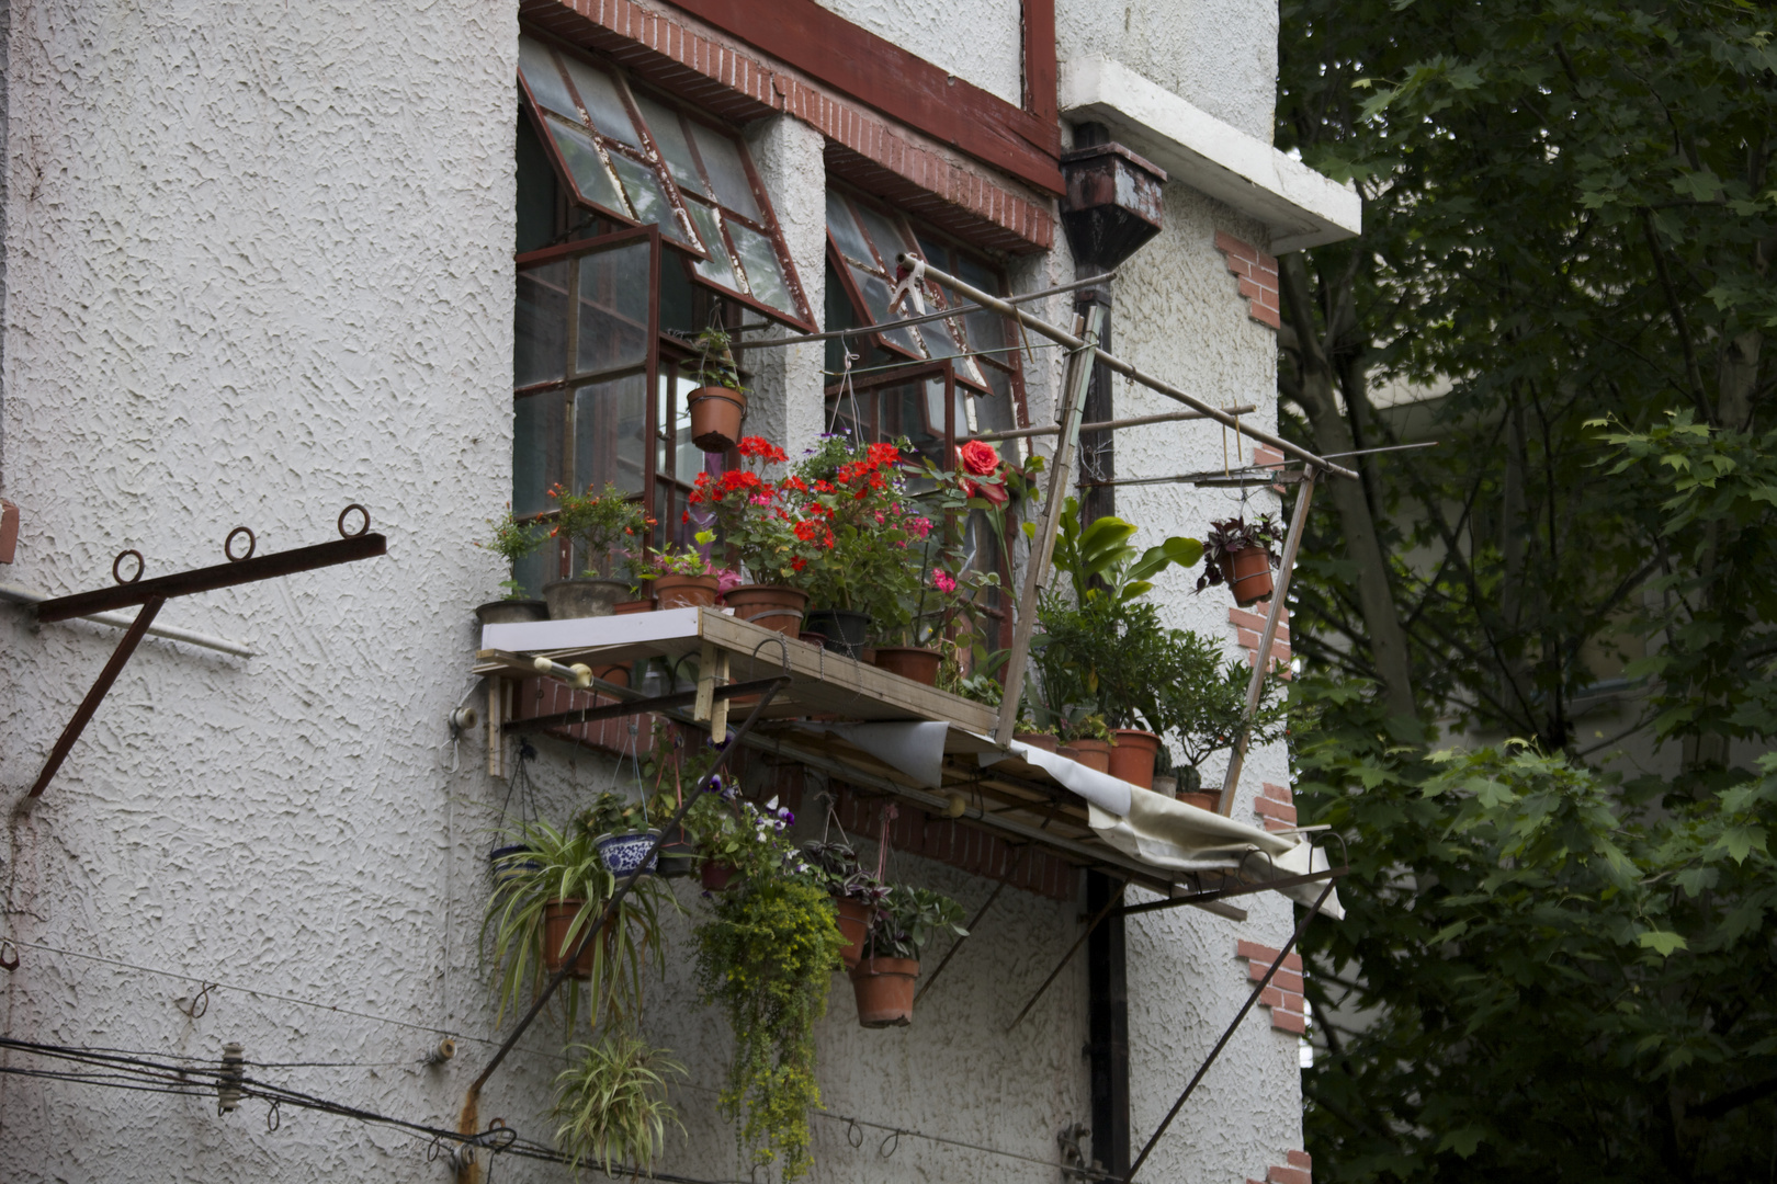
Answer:
[{"label": "protruding white concrete ledge above the dark drainpipe hopper", "polygon": [[1175,181],[1263,222],[1272,254],[1336,243],[1363,229],[1356,188],[1224,124],[1121,62],[1063,62],[1059,89],[1064,115],[1105,124]]}]

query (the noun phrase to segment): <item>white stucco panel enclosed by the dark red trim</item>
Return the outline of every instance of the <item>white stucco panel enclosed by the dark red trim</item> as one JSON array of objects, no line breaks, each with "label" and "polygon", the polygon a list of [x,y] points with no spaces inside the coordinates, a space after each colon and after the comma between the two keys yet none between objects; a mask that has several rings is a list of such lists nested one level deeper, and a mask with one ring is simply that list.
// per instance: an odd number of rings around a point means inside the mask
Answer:
[{"label": "white stucco panel enclosed by the dark red trim", "polygon": [[817,0],[878,37],[1024,105],[1024,9],[1018,0]]}]

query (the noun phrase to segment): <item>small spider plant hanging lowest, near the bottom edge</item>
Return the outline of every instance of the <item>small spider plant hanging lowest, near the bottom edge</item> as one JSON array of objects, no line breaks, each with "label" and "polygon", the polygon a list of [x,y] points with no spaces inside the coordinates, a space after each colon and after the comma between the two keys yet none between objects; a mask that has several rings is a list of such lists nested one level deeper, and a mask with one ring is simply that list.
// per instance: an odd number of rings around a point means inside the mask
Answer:
[{"label": "small spider plant hanging lowest, near the bottom edge", "polygon": [[556,1074],[554,1117],[562,1120],[556,1147],[569,1168],[579,1175],[583,1163],[595,1163],[611,1177],[618,1166],[652,1173],[666,1127],[684,1133],[666,1101],[670,1081],[686,1076],[684,1065],[631,1031],[608,1031],[597,1044],[567,1051],[578,1060]]}]

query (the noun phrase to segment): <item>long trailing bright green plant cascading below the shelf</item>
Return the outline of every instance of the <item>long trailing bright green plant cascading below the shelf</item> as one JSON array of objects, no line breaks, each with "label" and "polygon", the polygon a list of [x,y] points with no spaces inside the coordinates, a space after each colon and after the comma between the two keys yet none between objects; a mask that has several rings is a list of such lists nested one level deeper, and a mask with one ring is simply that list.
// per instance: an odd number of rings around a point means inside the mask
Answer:
[{"label": "long trailing bright green plant cascading below the shelf", "polygon": [[[773,833],[753,847],[777,843]],[[698,996],[723,1010],[734,1033],[721,1108],[739,1124],[752,1161],[778,1161],[784,1180],[814,1163],[809,1109],[821,1104],[814,1024],[826,1014],[846,944],[826,889],[794,868],[782,852],[753,859],[739,888],[720,895],[711,920],[697,927]]]}]

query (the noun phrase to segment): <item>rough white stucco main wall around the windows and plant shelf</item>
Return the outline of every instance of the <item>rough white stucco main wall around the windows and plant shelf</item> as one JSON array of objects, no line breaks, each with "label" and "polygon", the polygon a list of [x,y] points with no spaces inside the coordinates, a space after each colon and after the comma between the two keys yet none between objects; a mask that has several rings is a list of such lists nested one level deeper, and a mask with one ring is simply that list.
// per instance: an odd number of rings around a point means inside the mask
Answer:
[{"label": "rough white stucco main wall around the windows and plant shelf", "polygon": [[[348,501],[370,506],[389,554],[169,604],[165,623],[261,657],[147,639],[41,806],[7,822],[4,932],[27,946],[0,982],[5,1031],[199,1058],[240,1040],[258,1062],[327,1062],[261,1070],[293,1088],[455,1125],[499,1035],[474,934],[506,783],[487,776],[478,737],[453,751],[444,717],[482,703],[469,607],[499,572],[469,540],[510,485],[515,39],[512,11],[483,0],[435,0],[400,23],[359,5],[286,16],[217,0],[14,14],[0,414],[27,533],[7,577],[98,586],[123,547],[147,554],[149,575],[213,563],[238,522],[261,552],[323,541]],[[766,121],[748,142],[819,309],[819,137]],[[1178,186],[1167,220],[1123,272],[1120,351],[1269,408],[1272,341],[1212,247],[1215,229],[1253,227]],[[1020,289],[1072,277],[1064,249],[1013,268]],[[1066,298],[1047,304],[1066,320]],[[1038,357],[1043,422],[1059,357]],[[759,364],[757,426],[791,447],[821,430],[819,364],[809,346]],[[1120,385],[1118,410],[1164,407]],[[1171,426],[1127,447],[1123,472],[1207,467],[1219,435]],[[1167,486],[1123,508],[1151,541],[1194,533],[1221,497]],[[1183,588],[1183,573],[1167,584],[1169,620],[1231,641],[1228,602]],[[7,801],[116,639],[0,605]],[[544,813],[622,779],[608,760],[538,747]],[[1255,786],[1287,772],[1281,749],[1249,767]],[[805,827],[819,825],[814,788]],[[894,859],[970,912],[992,891]],[[695,914],[697,893],[679,891]],[[1196,911],[1132,923],[1137,1140],[1244,998],[1235,937],[1288,932],[1285,904],[1249,907],[1242,925]],[[665,1168],[745,1179],[707,1093],[727,1037],[689,1005],[689,921],[673,925],[647,1030],[693,1085],[679,1095],[689,1138]],[[819,1033],[830,1115],[1040,1163],[913,1136],[885,1145],[874,1127],[853,1147],[846,1122],[817,1118],[814,1179],[1054,1180],[1056,1133],[1088,1118],[1084,967],[1016,1033],[1002,1028],[1079,930],[1077,904],[1008,891],[912,1028],[857,1028],[835,980]],[[203,982],[222,985],[194,1019],[178,1003]],[[458,1037],[458,1058],[419,1065],[441,1033]],[[528,1037],[483,1120],[549,1138],[565,1035],[546,1021]],[[1239,1180],[1281,1163],[1299,1140],[1294,1056],[1263,1012],[1249,1017],[1144,1177]],[[9,1180],[448,1179],[425,1152],[423,1138],[291,1109],[267,1133],[261,1102],[217,1118],[213,1099],[0,1076]]]}]

